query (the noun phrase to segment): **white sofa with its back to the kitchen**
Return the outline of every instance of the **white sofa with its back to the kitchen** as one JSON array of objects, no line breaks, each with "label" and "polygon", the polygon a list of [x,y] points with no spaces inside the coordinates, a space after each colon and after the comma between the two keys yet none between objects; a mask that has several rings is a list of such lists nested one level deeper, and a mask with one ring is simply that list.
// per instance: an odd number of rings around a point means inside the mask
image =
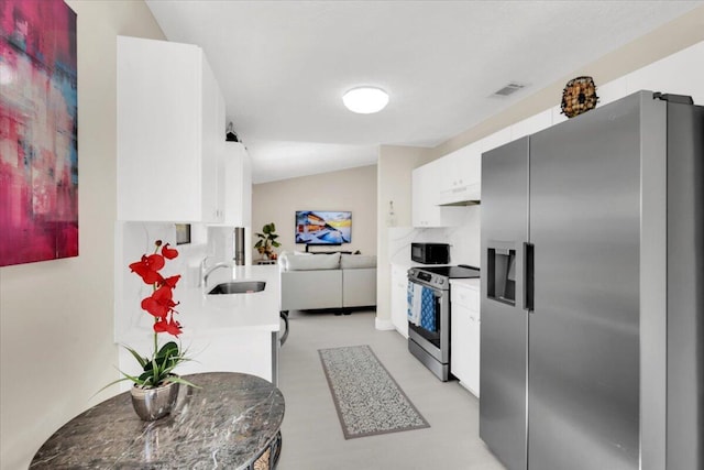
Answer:
[{"label": "white sofa with its back to the kitchen", "polygon": [[283,311],[376,306],[375,255],[282,253],[278,264]]}]

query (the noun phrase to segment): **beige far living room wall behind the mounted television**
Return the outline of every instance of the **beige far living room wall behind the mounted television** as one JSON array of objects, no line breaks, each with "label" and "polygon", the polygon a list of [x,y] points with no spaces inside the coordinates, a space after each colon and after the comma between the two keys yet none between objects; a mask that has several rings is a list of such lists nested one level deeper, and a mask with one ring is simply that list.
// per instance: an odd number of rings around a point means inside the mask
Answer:
[{"label": "beige far living room wall behind the mounted television", "polygon": [[304,250],[294,243],[296,210],[351,210],[352,243],[341,249],[376,254],[376,165],[253,185],[252,244],[258,240],[254,233],[274,222],[282,243],[278,253]]}]

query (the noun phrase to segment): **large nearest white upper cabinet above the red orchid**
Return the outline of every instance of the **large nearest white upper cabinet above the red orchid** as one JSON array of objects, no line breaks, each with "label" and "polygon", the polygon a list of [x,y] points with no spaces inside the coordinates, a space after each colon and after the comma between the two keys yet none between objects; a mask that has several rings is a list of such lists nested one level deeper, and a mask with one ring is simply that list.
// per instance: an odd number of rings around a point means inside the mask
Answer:
[{"label": "large nearest white upper cabinet above the red orchid", "polygon": [[118,220],[221,222],[224,99],[200,47],[118,36]]}]

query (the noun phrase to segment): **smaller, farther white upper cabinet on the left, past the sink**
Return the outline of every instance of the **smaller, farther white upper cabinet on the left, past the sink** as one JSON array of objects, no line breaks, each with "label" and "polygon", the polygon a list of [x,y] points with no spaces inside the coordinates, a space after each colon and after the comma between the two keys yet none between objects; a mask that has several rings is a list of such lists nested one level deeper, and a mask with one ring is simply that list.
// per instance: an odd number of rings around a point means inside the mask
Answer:
[{"label": "smaller, farther white upper cabinet on the left, past the sink", "polygon": [[223,178],[224,217],[223,225],[233,227],[252,226],[252,161],[240,142],[224,143]]}]

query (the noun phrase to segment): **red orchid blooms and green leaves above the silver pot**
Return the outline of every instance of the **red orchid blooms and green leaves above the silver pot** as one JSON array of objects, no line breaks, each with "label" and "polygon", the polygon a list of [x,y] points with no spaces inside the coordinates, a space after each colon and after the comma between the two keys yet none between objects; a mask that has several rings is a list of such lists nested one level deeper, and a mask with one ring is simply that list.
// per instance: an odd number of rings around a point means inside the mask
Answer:
[{"label": "red orchid blooms and green leaves above the silver pot", "polygon": [[175,337],[182,334],[180,323],[174,318],[174,315],[177,314],[174,307],[178,305],[178,303],[174,302],[174,288],[176,288],[180,275],[164,277],[160,273],[166,264],[166,260],[173,260],[178,256],[178,251],[169,248],[168,243],[163,244],[161,240],[156,240],[154,244],[156,247],[154,253],[150,255],[143,254],[140,261],[131,263],[129,266],[133,273],[142,277],[145,284],[153,287],[152,295],[145,297],[141,305],[143,310],[154,317],[154,352],[151,358],[142,357],[134,349],[125,346],[124,348],[132,353],[142,367],[142,373],[140,375],[130,375],[122,372],[124,378],[111,382],[106,387],[124,380],[130,380],[143,389],[155,389],[167,382],[196,386],[173,373],[176,365],[189,360],[180,350],[180,347],[174,341],[168,341],[161,349],[158,348],[160,334],[165,332]]}]

